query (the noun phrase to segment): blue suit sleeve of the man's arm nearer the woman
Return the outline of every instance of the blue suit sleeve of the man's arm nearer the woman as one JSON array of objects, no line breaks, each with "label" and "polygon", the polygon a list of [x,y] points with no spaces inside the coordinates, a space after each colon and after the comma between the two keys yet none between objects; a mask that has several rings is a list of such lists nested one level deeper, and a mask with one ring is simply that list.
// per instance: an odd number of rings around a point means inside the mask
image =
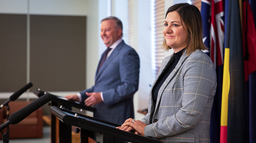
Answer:
[{"label": "blue suit sleeve of the man's arm nearer the woman", "polygon": [[127,98],[132,98],[139,86],[139,56],[134,49],[127,50],[119,61],[121,83],[115,88],[102,92],[104,103],[115,105]]}]

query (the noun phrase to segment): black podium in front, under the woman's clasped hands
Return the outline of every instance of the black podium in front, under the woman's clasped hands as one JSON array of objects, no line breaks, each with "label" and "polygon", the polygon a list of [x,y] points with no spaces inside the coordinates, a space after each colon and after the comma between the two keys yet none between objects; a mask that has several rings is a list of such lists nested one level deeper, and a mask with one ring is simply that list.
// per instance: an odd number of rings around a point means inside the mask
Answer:
[{"label": "black podium in front, under the woman's clasped hands", "polygon": [[52,115],[59,118],[64,124],[80,127],[81,142],[88,142],[88,137],[92,137],[94,140],[96,140],[96,133],[99,133],[103,136],[103,143],[124,143],[126,141],[133,143],[161,142],[154,138],[144,137],[141,135],[136,135],[135,133],[122,131],[116,128],[117,126],[119,126],[117,124],[79,114],[68,109],[62,109],[56,106],[52,106],[50,111]]}]

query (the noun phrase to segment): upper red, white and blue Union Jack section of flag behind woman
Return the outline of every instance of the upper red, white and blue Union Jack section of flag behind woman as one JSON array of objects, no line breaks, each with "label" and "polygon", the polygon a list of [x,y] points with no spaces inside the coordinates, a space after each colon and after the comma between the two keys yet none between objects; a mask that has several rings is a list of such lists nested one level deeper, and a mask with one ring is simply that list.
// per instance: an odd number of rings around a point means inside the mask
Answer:
[{"label": "upper red, white and blue Union Jack section of flag behind woman", "polygon": [[223,64],[224,5],[223,1],[202,0],[203,40],[214,66]]}]

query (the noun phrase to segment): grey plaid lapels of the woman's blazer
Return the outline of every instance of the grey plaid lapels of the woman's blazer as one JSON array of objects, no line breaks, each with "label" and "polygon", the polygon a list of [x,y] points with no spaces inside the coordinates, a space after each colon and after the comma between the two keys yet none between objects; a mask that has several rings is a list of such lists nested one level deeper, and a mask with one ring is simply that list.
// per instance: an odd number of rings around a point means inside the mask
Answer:
[{"label": "grey plaid lapels of the woman's blazer", "polygon": [[[189,54],[190,55],[190,54]],[[159,109],[159,103],[161,101],[161,97],[162,94],[164,92],[164,89],[166,89],[166,86],[170,83],[170,81],[176,76],[177,71],[179,71],[180,67],[182,66],[182,64],[185,62],[185,60],[189,57],[189,55],[187,56],[187,50],[184,51],[183,55],[180,57],[179,62],[177,63],[177,65],[175,66],[174,70],[171,72],[171,74],[167,77],[167,79],[164,81],[163,85],[160,87],[159,92],[158,92],[158,99],[156,100],[156,108],[155,109]],[[170,60],[167,62],[167,64],[163,67],[163,70],[160,74],[162,74],[170,64],[172,62],[172,60],[174,60],[175,56],[174,54],[172,55],[172,57],[170,58]],[[160,75],[159,75],[160,76]],[[157,80],[156,80],[157,81]],[[156,81],[154,82],[154,84],[156,83]],[[156,110],[155,110],[156,112]],[[154,112],[154,115],[155,115]]]}]

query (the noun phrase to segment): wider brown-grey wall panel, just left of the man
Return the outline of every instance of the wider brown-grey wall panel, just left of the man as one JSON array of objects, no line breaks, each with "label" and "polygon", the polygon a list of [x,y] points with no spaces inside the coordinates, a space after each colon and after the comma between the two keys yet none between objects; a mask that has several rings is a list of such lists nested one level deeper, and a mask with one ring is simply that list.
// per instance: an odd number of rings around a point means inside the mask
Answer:
[{"label": "wider brown-grey wall panel, just left of the man", "polygon": [[30,16],[30,79],[45,91],[85,89],[85,16]]}]

